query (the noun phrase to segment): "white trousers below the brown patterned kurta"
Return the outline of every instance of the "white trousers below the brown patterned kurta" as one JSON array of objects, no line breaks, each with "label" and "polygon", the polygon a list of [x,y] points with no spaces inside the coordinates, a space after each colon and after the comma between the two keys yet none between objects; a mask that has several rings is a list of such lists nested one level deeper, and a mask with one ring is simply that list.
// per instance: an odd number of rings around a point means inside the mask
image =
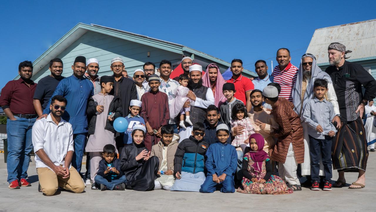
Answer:
[{"label": "white trousers below the brown patterned kurta", "polygon": [[296,174],[297,167],[298,163],[295,159],[293,143],[290,143],[285,163],[278,164],[279,177],[291,185],[300,185],[298,176]]}]

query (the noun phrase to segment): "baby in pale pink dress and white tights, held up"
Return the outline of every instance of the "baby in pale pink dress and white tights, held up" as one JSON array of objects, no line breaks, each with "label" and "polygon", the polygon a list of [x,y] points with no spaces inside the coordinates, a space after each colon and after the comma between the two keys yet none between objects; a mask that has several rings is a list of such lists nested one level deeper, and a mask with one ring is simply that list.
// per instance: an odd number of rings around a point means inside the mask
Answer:
[{"label": "baby in pale pink dress and white tights, held up", "polygon": [[171,106],[170,106],[170,117],[175,118],[178,114],[180,114],[180,122],[179,126],[183,129],[186,129],[184,124],[184,114],[185,114],[185,121],[186,123],[193,125],[190,120],[190,111],[191,108],[183,108],[184,103],[188,100],[187,94],[189,89],[188,86],[189,77],[186,74],[180,74],[179,76],[179,83],[180,86],[177,87],[176,91],[176,98],[172,100]]}]

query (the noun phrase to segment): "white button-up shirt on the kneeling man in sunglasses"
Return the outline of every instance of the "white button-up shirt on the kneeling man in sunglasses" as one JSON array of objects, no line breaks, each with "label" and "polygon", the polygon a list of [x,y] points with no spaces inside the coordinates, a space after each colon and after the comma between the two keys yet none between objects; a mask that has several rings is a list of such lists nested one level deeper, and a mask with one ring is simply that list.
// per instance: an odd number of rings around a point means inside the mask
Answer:
[{"label": "white button-up shirt on the kneeling man in sunglasses", "polygon": [[[59,124],[53,122],[51,114],[47,118],[35,121],[32,128],[34,152],[43,149],[53,164],[65,167],[65,156],[73,149],[73,129],[70,123],[61,119]],[[35,155],[36,167],[47,166],[38,155]],[[71,167],[71,164],[69,168]],[[52,169],[51,169],[52,170]]]}]

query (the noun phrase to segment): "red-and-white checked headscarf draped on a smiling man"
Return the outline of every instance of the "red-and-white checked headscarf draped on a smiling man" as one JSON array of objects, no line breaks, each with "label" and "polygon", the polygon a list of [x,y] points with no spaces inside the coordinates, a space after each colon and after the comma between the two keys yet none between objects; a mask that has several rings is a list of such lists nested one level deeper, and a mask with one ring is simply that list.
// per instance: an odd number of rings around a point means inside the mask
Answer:
[{"label": "red-and-white checked headscarf draped on a smiling man", "polygon": [[218,108],[219,105],[221,105],[222,103],[226,101],[226,98],[223,95],[222,87],[223,87],[223,84],[226,83],[227,81],[224,80],[221,72],[219,71],[218,66],[215,63],[210,63],[208,65],[208,68],[206,68],[206,72],[204,76],[202,77],[202,85],[211,89],[210,78],[209,78],[208,72],[209,72],[209,68],[213,68],[213,67],[217,69],[217,82],[215,84],[214,105]]}]

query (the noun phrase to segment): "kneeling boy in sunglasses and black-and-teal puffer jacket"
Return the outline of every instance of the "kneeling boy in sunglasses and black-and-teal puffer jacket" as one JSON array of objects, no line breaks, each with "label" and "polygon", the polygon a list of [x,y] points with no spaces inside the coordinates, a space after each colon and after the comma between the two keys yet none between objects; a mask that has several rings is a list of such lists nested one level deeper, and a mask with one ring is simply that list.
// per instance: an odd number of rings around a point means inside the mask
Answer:
[{"label": "kneeling boy in sunglasses and black-and-teal puffer jacket", "polygon": [[205,181],[205,153],[209,144],[203,141],[205,127],[193,124],[192,135],[177,146],[174,159],[175,183],[171,190],[200,191]]}]

